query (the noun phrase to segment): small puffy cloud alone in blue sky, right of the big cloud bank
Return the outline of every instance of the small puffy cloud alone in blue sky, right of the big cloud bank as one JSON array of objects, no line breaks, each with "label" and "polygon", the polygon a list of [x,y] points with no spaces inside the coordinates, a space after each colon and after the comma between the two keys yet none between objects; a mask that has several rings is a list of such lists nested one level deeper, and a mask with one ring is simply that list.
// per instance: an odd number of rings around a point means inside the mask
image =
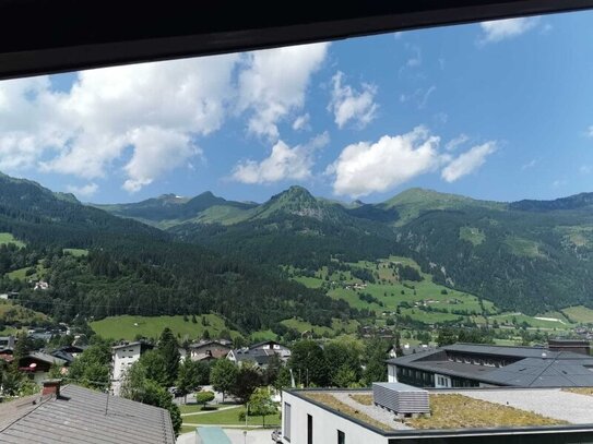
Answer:
[{"label": "small puffy cloud alone in blue sky, right of the big cloud bank", "polygon": [[358,92],[349,85],[342,85],[343,77],[344,74],[340,71],[332,77],[333,89],[328,110],[333,112],[337,128],[342,129],[349,121],[364,128],[377,113],[377,87],[364,83],[363,91]]}]

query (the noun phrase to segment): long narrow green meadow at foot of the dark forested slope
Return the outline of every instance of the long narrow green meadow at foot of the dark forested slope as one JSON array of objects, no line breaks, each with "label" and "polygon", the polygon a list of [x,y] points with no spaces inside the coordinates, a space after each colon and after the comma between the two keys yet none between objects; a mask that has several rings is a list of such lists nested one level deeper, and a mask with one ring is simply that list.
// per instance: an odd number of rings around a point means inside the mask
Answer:
[{"label": "long narrow green meadow at foot of the dark forested slope", "polygon": [[[91,327],[98,335],[112,339],[132,340],[137,335],[143,337],[157,338],[165,327],[169,327],[175,335],[180,338],[197,339],[207,329],[211,337],[217,337],[223,329],[227,329],[221,316],[215,314],[197,315],[198,323],[191,322],[191,315],[188,321],[183,316],[109,316],[100,321],[91,323]],[[207,320],[206,326],[202,325],[201,317]],[[230,336],[238,336],[236,331],[229,331]]]}]

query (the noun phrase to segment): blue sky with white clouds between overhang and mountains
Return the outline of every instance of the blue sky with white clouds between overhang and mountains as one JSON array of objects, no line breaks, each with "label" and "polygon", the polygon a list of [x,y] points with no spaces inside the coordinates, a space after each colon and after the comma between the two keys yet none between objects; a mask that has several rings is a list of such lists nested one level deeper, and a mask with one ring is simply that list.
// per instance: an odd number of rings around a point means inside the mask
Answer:
[{"label": "blue sky with white clouds between overhang and mountains", "polygon": [[83,202],[593,191],[593,12],[0,82],[0,171]]}]

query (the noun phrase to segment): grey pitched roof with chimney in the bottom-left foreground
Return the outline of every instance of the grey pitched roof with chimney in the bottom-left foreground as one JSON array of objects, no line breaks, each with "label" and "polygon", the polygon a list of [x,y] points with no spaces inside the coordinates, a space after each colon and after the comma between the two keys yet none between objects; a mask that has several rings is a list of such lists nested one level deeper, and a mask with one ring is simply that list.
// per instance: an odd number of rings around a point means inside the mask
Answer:
[{"label": "grey pitched roof with chimney in the bottom-left foreground", "polygon": [[175,443],[165,409],[78,385],[60,397],[28,396],[0,405],[2,443]]}]

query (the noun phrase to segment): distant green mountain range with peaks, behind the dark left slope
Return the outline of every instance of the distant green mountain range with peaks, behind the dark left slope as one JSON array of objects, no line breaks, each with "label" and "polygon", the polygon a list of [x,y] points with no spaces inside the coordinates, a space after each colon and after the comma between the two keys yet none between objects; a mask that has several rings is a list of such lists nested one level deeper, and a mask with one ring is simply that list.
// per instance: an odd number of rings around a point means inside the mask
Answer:
[{"label": "distant green mountain range with peaks, behind the dark left slope", "polygon": [[503,203],[416,188],[378,204],[343,204],[290,187],[262,204],[203,193],[100,207],[258,263],[317,269],[399,254],[503,309],[593,303],[593,193]]}]

